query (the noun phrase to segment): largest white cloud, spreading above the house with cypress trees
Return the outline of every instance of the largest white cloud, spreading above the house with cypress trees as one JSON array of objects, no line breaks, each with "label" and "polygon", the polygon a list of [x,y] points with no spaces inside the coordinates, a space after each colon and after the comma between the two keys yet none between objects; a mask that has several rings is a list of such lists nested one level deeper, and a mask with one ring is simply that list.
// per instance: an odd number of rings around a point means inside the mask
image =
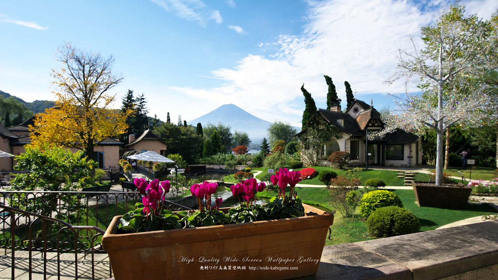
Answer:
[{"label": "largest white cloud, spreading above the house with cypress trees", "polygon": [[[317,107],[325,108],[323,75],[332,78],[343,100],[344,81],[359,94],[403,93],[402,81],[391,86],[384,83],[395,69],[397,50],[411,50],[409,38],[421,45],[420,27],[431,24],[438,12],[437,6],[396,0],[308,2],[304,32],[280,35],[278,50],[271,56],[249,54],[234,69],[212,71],[214,77],[226,81],[219,87],[172,89],[202,100],[205,107],[198,109],[198,116],[220,106],[220,100],[229,100],[262,119],[300,126],[304,108],[300,87],[304,83]],[[417,91],[417,83],[414,79],[409,90]],[[245,102],[241,96],[257,102]]]}]

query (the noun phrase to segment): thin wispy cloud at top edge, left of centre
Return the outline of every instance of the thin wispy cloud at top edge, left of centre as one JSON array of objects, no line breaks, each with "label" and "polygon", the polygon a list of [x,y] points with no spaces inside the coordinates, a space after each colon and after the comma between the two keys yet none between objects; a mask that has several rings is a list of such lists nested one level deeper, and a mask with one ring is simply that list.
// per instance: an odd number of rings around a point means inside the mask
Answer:
[{"label": "thin wispy cloud at top edge, left of centre", "polygon": [[210,10],[201,0],[151,0],[165,11],[190,21],[198,21],[199,25],[206,27],[206,21],[214,19],[221,23],[223,18],[218,10]]}]

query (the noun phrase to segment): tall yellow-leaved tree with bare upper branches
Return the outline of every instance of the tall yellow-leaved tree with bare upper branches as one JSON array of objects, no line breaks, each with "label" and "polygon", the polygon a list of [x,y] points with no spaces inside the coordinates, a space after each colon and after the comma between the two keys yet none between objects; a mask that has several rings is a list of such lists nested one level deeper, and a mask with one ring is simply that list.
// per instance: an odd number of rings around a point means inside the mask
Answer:
[{"label": "tall yellow-leaved tree with bare upper branches", "polygon": [[127,128],[131,110],[110,108],[116,95],[109,91],[123,78],[113,74],[112,56],[105,58],[71,43],[60,46],[56,57],[63,64],[51,74],[56,106],[37,115],[30,127],[32,143],[74,147],[92,157],[96,144]]}]

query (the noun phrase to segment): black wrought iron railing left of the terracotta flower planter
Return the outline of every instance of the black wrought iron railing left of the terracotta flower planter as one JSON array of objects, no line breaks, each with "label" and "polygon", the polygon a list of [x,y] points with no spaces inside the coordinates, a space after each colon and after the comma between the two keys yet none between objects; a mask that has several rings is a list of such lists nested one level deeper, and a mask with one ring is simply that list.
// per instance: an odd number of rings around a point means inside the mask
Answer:
[{"label": "black wrought iron railing left of the terracotta flower planter", "polygon": [[[138,192],[0,191],[0,259],[12,279],[112,277],[100,240],[112,218],[137,201]],[[172,211],[190,209],[165,203]]]}]

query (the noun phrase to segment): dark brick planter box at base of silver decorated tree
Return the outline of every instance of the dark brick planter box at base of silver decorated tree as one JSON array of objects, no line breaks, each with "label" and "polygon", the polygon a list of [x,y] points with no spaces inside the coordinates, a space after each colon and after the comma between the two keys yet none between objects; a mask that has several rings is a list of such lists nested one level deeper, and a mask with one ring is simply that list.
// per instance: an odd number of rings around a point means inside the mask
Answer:
[{"label": "dark brick planter box at base of silver decorated tree", "polygon": [[469,200],[471,187],[462,183],[454,183],[457,187],[450,186],[432,186],[420,185],[420,183],[430,182],[412,182],[415,198],[419,206],[438,207],[438,208],[465,208]]}]

